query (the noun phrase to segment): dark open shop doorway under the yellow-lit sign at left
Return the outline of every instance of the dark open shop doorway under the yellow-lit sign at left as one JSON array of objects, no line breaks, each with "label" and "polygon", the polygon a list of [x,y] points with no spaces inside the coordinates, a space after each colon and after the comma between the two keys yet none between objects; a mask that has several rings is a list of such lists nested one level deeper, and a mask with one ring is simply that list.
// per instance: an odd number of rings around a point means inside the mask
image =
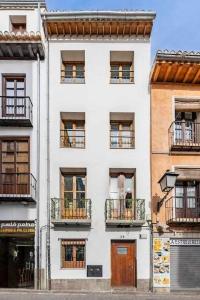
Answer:
[{"label": "dark open shop doorway under the yellow-lit sign at left", "polygon": [[34,238],[0,238],[0,288],[34,287]]}]

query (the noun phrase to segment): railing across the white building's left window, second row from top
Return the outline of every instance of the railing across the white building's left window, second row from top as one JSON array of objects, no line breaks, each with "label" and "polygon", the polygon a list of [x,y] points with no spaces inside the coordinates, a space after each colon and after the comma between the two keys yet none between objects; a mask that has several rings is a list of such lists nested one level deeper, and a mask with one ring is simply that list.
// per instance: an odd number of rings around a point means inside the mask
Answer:
[{"label": "railing across the white building's left window, second row from top", "polygon": [[60,130],[60,144],[62,148],[85,148],[85,130]]}]

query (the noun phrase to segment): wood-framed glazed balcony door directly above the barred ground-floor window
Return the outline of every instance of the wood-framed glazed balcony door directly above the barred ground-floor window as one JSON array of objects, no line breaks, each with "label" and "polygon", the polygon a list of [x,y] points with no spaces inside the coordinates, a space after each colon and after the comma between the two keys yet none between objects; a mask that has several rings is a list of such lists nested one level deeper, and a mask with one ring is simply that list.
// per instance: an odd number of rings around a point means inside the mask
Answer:
[{"label": "wood-framed glazed balcony door directly above the barred ground-floor window", "polygon": [[87,218],[86,176],[64,174],[61,181],[61,217],[63,219]]}]

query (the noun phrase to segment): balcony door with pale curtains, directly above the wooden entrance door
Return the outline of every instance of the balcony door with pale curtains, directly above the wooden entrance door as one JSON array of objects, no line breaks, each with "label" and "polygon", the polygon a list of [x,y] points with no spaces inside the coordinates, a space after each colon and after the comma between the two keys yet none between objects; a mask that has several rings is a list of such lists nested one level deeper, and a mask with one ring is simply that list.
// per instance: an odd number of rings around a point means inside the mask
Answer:
[{"label": "balcony door with pale curtains, directly above the wooden entrance door", "polygon": [[111,174],[108,205],[113,219],[133,219],[135,215],[133,174]]}]

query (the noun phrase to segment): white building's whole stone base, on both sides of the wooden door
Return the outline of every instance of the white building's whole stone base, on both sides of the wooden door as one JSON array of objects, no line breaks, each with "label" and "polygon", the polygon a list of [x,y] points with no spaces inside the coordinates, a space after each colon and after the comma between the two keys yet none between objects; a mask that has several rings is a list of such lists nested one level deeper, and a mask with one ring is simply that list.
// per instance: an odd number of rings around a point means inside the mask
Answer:
[{"label": "white building's whole stone base, on both sides of the wooden door", "polygon": [[[138,279],[137,291],[148,292],[149,280]],[[52,290],[70,290],[70,291],[110,291],[111,281],[110,279],[52,279]],[[123,287],[120,288],[121,290]],[[125,288],[126,289],[126,288]]]}]

